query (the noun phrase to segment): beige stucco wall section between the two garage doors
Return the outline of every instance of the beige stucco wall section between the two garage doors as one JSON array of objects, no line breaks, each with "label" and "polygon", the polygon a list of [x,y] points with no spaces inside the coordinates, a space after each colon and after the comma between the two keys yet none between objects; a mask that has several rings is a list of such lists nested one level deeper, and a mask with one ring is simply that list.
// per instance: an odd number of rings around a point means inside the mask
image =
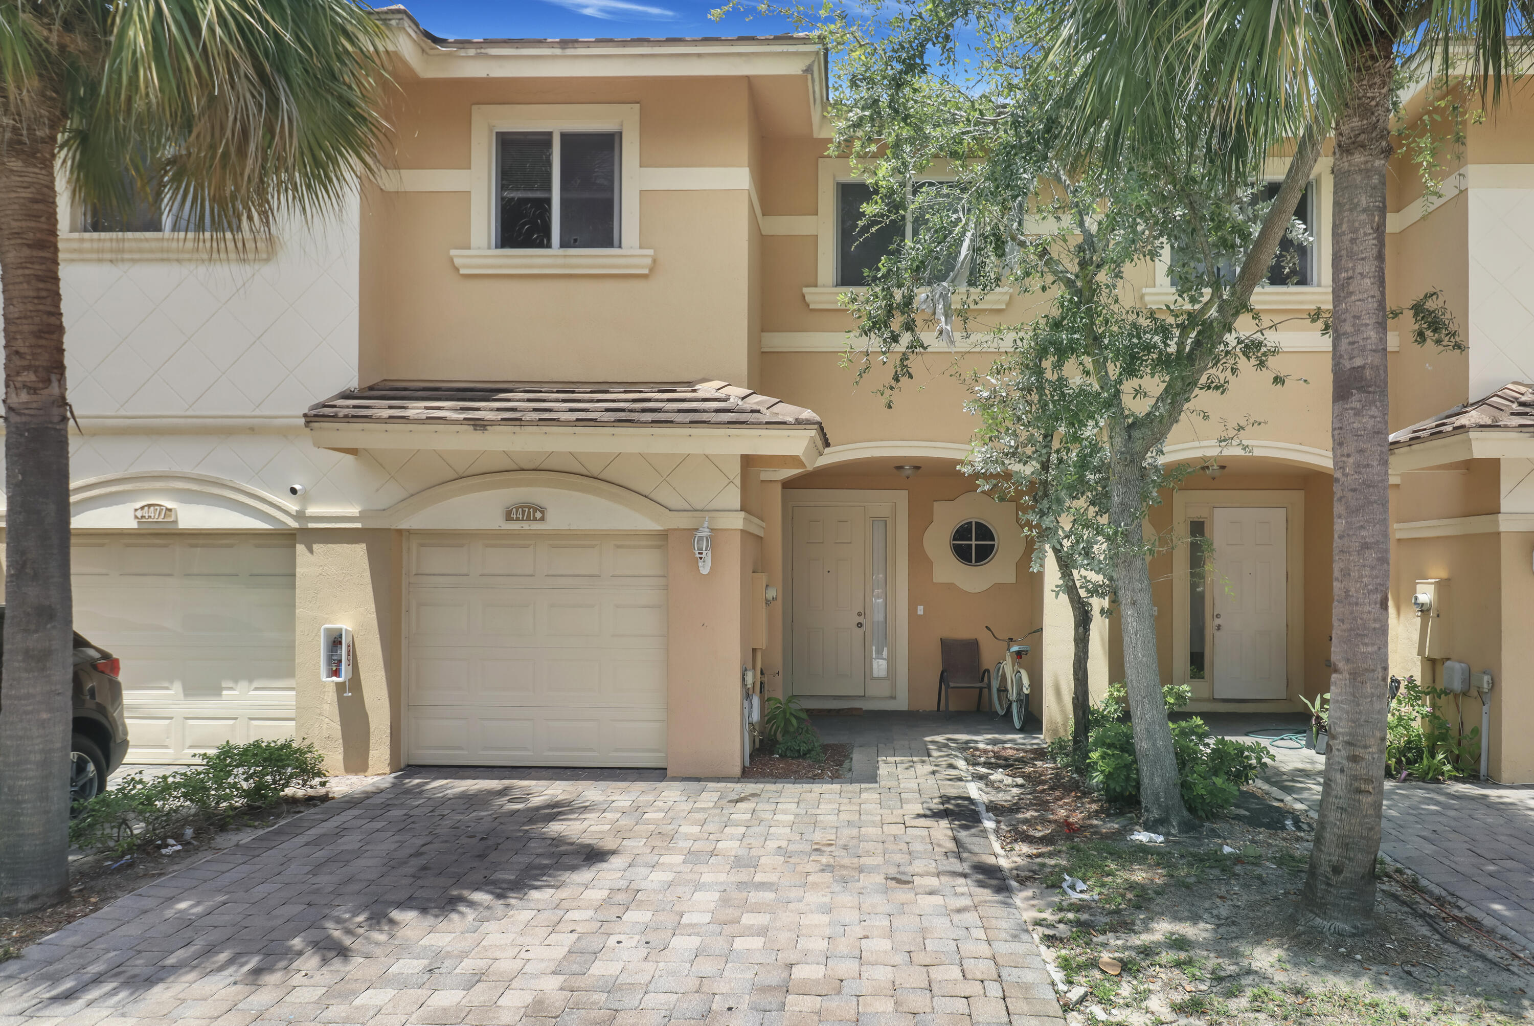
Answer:
[{"label": "beige stucco wall section between the two garage doors", "polygon": [[[388,773],[400,765],[403,532],[298,532],[296,735],[325,753],[330,773]],[[351,627],[351,696],[321,682],[319,629]]]}]

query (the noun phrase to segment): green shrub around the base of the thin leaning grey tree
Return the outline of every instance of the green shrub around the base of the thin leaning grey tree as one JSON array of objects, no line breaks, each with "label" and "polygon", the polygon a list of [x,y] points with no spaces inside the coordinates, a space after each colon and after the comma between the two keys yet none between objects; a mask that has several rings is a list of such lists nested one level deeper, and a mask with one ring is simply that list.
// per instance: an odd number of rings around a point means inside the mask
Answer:
[{"label": "green shrub around the base of the thin leaning grey tree", "polygon": [[[1186,684],[1161,689],[1167,712],[1187,704]],[[1135,730],[1129,721],[1129,701],[1123,684],[1112,684],[1101,702],[1092,707],[1092,730],[1085,759],[1069,739],[1051,745],[1057,762],[1080,773],[1103,797],[1123,805],[1140,801],[1140,765],[1135,762]],[[1181,778],[1183,804],[1200,819],[1209,819],[1236,802],[1243,784],[1256,779],[1273,755],[1262,742],[1215,738],[1203,719],[1192,716],[1172,724],[1172,750]],[[1085,767],[1085,768],[1078,768]]]}]

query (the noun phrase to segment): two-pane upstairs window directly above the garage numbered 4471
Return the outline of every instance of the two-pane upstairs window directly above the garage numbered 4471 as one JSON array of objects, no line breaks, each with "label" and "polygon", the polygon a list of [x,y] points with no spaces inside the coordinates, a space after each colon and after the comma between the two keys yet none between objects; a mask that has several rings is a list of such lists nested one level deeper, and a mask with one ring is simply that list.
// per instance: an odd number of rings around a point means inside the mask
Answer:
[{"label": "two-pane upstairs window directly above the garage numbered 4471", "polygon": [[618,248],[621,132],[497,132],[495,248]]}]

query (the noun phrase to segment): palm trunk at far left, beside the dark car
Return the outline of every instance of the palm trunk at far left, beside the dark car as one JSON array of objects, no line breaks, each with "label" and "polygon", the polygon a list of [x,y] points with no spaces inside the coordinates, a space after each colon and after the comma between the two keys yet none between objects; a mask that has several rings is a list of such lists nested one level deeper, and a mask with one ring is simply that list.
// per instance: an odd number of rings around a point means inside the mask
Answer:
[{"label": "palm trunk at far left, beside the dark car", "polygon": [[54,133],[0,150],[6,612],[0,664],[0,916],[69,893],[69,425]]}]

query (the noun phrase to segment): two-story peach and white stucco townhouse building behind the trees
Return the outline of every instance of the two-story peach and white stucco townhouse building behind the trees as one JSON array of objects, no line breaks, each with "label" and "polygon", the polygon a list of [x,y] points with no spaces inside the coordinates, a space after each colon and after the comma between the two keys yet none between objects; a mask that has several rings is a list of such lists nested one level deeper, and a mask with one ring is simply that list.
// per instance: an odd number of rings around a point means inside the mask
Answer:
[{"label": "two-story peach and white stucco townhouse building behind the trees", "polygon": [[[61,212],[75,613],[123,658],[130,758],[296,732],[354,773],[735,776],[747,681],[933,709],[939,641],[994,661],[986,626],[1043,629],[1032,704],[1063,732],[1069,610],[1016,509],[956,469],[971,420],[948,370],[991,354],[931,356],[890,409],[841,367],[838,296],[888,239],[858,232],[865,187],[827,156],[816,44],[465,41],[380,17],[397,152],[333,224],[210,255]],[[1397,169],[1391,301],[1443,288],[1470,347],[1393,336],[1394,425],[1531,376],[1520,124],[1471,130],[1431,216]],[[1304,314],[1330,302],[1330,202],[1322,159],[1299,278],[1256,296],[1285,321],[1290,383],[1246,376],[1209,405],[1256,422],[1247,449],[1201,423],[1167,449],[1210,465],[1150,517],[1209,540],[1154,563],[1163,675],[1195,709],[1298,712],[1327,690],[1330,354]],[[1170,298],[1164,268],[1137,288]],[[974,302],[1005,322],[1035,301]],[[1457,575],[1450,655],[1500,681],[1493,771],[1534,778],[1526,745],[1502,747],[1529,686],[1528,425],[1493,442],[1465,416],[1397,455],[1397,661],[1424,672],[1416,581]],[[322,679],[327,626],[351,632],[347,682]],[[1095,687],[1121,675],[1104,627]]]}]

